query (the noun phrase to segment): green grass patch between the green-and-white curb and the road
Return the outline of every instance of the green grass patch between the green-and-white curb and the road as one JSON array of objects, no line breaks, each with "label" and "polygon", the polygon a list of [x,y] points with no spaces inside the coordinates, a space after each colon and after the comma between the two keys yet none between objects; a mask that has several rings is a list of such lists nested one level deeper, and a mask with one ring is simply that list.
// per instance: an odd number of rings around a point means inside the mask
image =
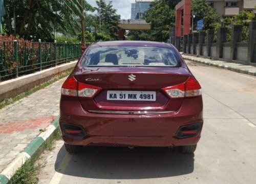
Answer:
[{"label": "green grass patch between the green-and-white curb and the road", "polygon": [[[11,184],[36,184],[38,183],[38,175],[42,168],[46,165],[46,160],[40,157],[45,150],[52,151],[55,148],[55,142],[61,139],[59,127],[54,131],[53,135],[37,150],[37,152],[28,159],[22,167],[20,167],[13,177],[10,179]],[[40,161],[40,162],[39,162]]]}]

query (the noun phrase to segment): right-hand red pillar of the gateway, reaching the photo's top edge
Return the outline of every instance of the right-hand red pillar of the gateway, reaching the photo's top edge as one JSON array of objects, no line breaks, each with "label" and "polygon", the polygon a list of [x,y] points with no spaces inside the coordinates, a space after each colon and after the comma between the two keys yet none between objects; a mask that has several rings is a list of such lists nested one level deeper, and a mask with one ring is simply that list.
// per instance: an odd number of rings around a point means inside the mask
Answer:
[{"label": "right-hand red pillar of the gateway, reaching the photo's top edge", "polygon": [[184,0],[184,12],[183,12],[183,34],[188,35],[190,33],[190,19],[191,19],[191,0]]}]

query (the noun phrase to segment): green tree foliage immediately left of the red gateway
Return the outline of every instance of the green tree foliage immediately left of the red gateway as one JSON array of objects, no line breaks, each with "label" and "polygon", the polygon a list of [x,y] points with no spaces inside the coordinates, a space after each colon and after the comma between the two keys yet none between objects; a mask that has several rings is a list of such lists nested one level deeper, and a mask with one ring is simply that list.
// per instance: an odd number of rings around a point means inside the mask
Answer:
[{"label": "green tree foliage immediately left of the red gateway", "polygon": [[175,27],[175,6],[179,1],[156,0],[146,11],[146,22],[151,24],[151,38],[166,41],[169,29]]}]

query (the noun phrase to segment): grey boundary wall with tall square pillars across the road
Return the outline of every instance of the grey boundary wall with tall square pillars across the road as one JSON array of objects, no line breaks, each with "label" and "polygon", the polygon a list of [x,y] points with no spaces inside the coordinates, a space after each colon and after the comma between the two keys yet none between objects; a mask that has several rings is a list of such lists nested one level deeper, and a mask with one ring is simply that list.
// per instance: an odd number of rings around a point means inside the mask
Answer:
[{"label": "grey boundary wall with tall square pillars across the road", "polygon": [[[227,28],[217,29],[216,42],[213,42],[214,30],[208,30],[207,33],[199,32],[193,33],[193,35],[189,34],[188,37],[192,38],[192,40],[194,39],[194,42],[187,41],[185,45],[183,45],[184,48],[187,48],[183,53],[256,66],[256,21],[249,21],[248,42],[240,42],[242,30],[242,25],[233,25],[230,42],[225,42],[228,32]],[[185,36],[186,35],[184,35],[184,37]],[[204,40],[207,40],[207,42],[205,43]],[[188,48],[190,48],[190,52]],[[193,48],[196,48],[197,52],[193,53]],[[201,51],[201,53],[199,51]]]}]

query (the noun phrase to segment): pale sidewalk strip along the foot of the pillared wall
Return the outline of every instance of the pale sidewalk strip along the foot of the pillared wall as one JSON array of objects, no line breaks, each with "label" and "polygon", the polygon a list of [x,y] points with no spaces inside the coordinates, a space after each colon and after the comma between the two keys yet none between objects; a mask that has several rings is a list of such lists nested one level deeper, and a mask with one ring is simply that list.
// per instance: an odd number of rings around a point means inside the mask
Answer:
[{"label": "pale sidewalk strip along the foot of the pillared wall", "polygon": [[202,57],[188,56],[188,55],[183,55],[183,54],[182,54],[182,57],[184,59],[187,59],[190,61],[195,61],[198,63],[207,64],[210,66],[224,68],[226,70],[230,70],[233,72],[256,76],[256,67],[255,66],[243,65],[243,64],[238,64],[238,63],[230,63],[230,62],[225,62],[225,61],[206,59],[206,58],[202,58]]}]

